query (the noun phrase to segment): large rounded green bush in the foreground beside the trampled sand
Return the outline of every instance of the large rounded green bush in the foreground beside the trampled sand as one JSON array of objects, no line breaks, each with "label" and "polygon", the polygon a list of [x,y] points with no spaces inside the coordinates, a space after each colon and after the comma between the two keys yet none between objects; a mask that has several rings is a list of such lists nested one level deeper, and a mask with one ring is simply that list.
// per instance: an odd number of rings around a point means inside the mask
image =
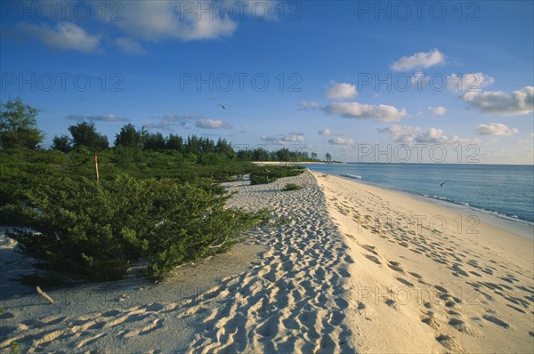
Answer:
[{"label": "large rounded green bush in the foreground beside the trampled sand", "polygon": [[226,251],[268,219],[266,211],[225,208],[231,196],[218,191],[125,175],[98,186],[65,178],[28,191],[28,205],[12,206],[36,232],[9,236],[49,270],[113,280],[143,258],[150,276],[162,278],[183,262]]}]

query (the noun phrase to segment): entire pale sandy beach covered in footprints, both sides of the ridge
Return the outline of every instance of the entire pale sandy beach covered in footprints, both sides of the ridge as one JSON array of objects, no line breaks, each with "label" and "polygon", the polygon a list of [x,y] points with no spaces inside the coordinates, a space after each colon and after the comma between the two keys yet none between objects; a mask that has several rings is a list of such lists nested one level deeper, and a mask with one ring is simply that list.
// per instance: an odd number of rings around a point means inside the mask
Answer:
[{"label": "entire pale sandy beach covered in footprints, both sides of the ridge", "polygon": [[[282,191],[287,182],[303,189]],[[35,289],[0,245],[0,351],[531,352],[533,243],[409,195],[306,172],[227,183],[279,224],[145,278]]]}]

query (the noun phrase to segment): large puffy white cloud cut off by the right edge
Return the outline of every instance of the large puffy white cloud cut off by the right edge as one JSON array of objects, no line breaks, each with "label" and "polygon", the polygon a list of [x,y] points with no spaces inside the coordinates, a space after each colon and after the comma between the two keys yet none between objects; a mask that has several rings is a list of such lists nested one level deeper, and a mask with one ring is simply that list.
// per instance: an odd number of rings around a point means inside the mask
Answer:
[{"label": "large puffy white cloud cut off by the right edge", "polygon": [[461,99],[484,113],[523,115],[534,111],[534,86],[526,86],[513,93],[502,91],[468,92]]}]

